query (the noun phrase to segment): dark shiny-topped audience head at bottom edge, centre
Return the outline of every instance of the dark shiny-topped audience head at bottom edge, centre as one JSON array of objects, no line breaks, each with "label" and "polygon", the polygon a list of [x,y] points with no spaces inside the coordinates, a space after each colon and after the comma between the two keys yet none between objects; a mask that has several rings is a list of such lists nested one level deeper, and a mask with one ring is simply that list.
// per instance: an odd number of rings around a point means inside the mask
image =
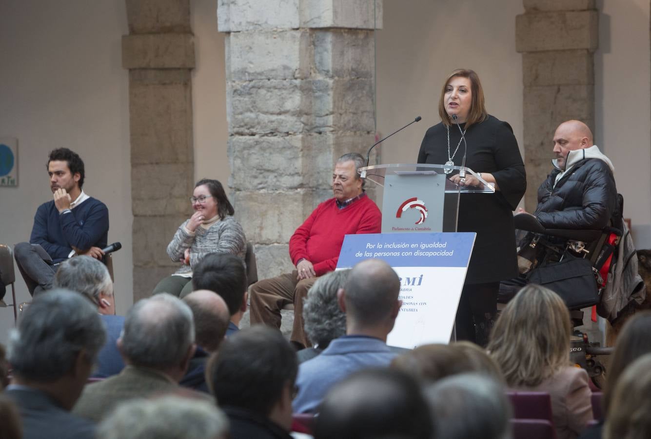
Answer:
[{"label": "dark shiny-topped audience head at bottom edge, centre", "polygon": [[427,403],[413,378],[391,369],[367,369],[330,389],[316,418],[314,438],[439,437],[432,431]]}]

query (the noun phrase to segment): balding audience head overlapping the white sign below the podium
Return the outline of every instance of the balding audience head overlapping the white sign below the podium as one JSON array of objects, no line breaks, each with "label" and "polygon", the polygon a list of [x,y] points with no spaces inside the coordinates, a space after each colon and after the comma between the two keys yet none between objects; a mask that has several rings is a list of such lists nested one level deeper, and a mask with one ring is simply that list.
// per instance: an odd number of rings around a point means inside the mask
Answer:
[{"label": "balding audience head overlapping the white sign below the podium", "polygon": [[402,305],[398,294],[400,278],[387,262],[367,259],[356,264],[337,294],[346,313],[346,333],[386,339]]}]

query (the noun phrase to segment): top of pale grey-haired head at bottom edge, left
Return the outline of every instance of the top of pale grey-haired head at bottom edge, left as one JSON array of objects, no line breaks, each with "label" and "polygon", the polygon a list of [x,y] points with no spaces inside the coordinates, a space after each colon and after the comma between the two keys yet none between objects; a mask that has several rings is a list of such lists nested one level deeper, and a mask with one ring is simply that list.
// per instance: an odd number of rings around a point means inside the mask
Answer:
[{"label": "top of pale grey-haired head at bottom edge, left", "polygon": [[[213,293],[214,294],[214,293]],[[229,421],[214,404],[165,396],[120,404],[98,428],[98,439],[222,439]]]}]

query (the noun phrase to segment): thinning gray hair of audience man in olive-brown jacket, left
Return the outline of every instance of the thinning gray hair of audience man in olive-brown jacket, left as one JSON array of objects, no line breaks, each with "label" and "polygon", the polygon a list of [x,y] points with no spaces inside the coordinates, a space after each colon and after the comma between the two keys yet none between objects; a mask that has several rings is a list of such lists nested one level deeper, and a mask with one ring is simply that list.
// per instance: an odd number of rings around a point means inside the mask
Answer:
[{"label": "thinning gray hair of audience man in olive-brown jacket, left", "polygon": [[161,293],[136,302],[124,318],[122,354],[133,365],[167,369],[178,365],[195,342],[190,307]]}]

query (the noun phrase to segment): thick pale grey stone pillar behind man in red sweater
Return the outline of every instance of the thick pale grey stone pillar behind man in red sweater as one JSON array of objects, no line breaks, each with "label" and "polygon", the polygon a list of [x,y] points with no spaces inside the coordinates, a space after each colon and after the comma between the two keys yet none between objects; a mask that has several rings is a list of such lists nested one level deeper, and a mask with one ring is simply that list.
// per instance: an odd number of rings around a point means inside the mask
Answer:
[{"label": "thick pale grey stone pillar behind man in red sweater", "polygon": [[332,196],[337,157],[373,143],[381,0],[217,5],[227,33],[230,198],[262,279],[293,268],[288,240]]}]

